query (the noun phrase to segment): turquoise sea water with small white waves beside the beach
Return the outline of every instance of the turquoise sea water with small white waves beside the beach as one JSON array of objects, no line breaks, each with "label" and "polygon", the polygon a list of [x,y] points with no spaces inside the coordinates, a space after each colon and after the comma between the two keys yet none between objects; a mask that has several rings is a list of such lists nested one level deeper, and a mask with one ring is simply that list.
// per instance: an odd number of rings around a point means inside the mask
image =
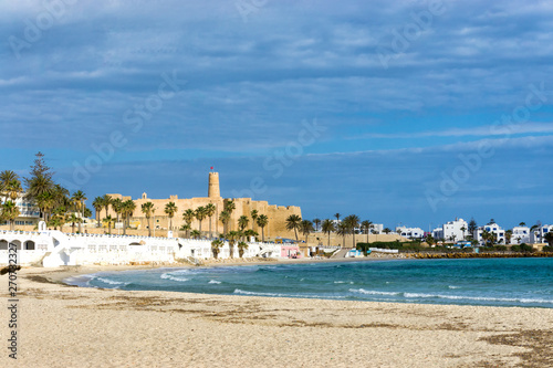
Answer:
[{"label": "turquoise sea water with small white waves beside the beach", "polygon": [[553,259],[405,260],[102,272],[121,290],[553,308]]}]

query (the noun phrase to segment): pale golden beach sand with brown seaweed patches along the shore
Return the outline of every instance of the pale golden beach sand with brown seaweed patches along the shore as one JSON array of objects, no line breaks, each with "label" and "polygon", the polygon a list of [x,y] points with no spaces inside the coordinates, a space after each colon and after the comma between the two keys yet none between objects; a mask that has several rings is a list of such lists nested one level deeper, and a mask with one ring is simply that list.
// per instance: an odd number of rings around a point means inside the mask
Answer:
[{"label": "pale golden beach sand with brown seaweed patches along the shore", "polygon": [[[251,263],[250,263],[251,264]],[[553,309],[125,292],[19,271],[1,367],[553,367]],[[0,276],[2,305],[8,277]]]}]

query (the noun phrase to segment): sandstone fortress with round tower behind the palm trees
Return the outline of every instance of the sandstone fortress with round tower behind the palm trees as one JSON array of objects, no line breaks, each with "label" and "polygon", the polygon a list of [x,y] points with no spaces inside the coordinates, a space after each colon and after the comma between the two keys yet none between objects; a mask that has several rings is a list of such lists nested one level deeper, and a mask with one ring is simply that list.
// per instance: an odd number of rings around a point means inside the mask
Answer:
[{"label": "sandstone fortress with round tower behind the palm trees", "polygon": [[[131,197],[125,197],[122,194],[108,194],[113,199],[119,198],[123,201],[131,200]],[[267,201],[254,201],[251,198],[232,198],[225,199],[221,197],[221,191],[219,188],[219,174],[209,172],[209,185],[208,185],[208,197],[198,197],[189,199],[179,199],[177,196],[170,196],[168,199],[150,199],[146,193],[142,194],[140,199],[135,199],[136,209],[131,218],[132,223],[139,222],[140,229],[147,229],[148,222],[144,213],[142,212],[142,204],[146,202],[153,202],[155,208],[154,217],[150,218],[152,229],[155,230],[178,230],[186,222],[182,220],[182,213],[190,209],[196,210],[198,207],[205,207],[208,203],[212,203],[216,207],[216,212],[212,218],[206,218],[201,221],[201,231],[208,234],[209,224],[211,222],[211,229],[213,235],[218,235],[223,231],[223,224],[219,221],[219,214],[225,209],[225,203],[232,200],[236,204],[234,211],[232,211],[229,230],[238,230],[238,219],[241,215],[247,215],[250,222],[247,229],[253,229],[261,236],[261,229],[253,222],[251,218],[251,211],[257,210],[258,215],[265,214],[269,218],[269,223],[264,228],[265,240],[269,238],[274,239],[275,236],[293,238],[295,239],[294,232],[286,230],[286,218],[291,214],[302,215],[300,207],[295,206],[274,206],[269,204]],[[165,206],[169,202],[174,202],[177,206],[177,212],[173,218],[173,225],[169,229],[169,217],[165,213]],[[115,212],[113,209],[109,210],[109,214],[115,218]],[[191,223],[192,230],[199,229],[199,221],[195,219]]]}]

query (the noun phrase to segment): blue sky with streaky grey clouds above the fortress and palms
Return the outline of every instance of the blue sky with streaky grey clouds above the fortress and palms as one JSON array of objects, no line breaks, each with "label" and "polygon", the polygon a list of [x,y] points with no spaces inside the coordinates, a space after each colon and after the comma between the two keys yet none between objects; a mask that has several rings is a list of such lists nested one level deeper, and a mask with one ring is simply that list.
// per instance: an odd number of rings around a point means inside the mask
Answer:
[{"label": "blue sky with streaky grey clouds above the fortress and palms", "polygon": [[551,1],[0,2],[0,170],[92,200],[553,223]]}]

